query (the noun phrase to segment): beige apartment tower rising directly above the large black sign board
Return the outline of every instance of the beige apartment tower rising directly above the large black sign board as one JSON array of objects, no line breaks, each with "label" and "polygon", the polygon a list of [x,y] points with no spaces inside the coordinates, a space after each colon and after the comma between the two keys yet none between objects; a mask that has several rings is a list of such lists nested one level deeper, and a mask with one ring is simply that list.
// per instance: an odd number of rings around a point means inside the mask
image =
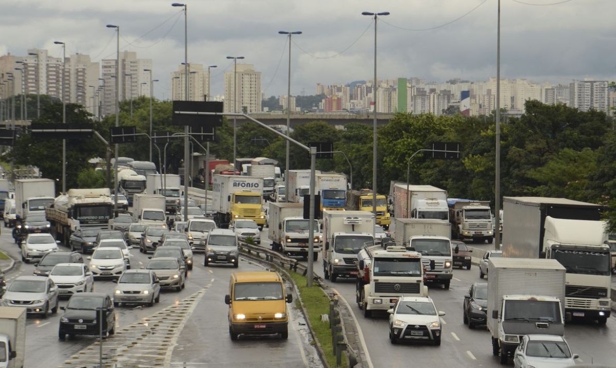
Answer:
[{"label": "beige apartment tower rising directly above the large black sign board", "polygon": [[[180,65],[177,71],[171,73],[171,98],[177,101],[186,101],[186,71]],[[203,70],[203,64],[188,65],[188,101],[205,101],[208,94],[209,73]]]}]

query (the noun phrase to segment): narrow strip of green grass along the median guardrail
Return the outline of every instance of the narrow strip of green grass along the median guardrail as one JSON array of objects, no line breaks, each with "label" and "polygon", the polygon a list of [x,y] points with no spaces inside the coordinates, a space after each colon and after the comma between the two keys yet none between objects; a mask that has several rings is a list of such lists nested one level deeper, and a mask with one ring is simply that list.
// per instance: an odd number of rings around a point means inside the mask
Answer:
[{"label": "narrow strip of green grass along the median guardrail", "polygon": [[[333,346],[331,345],[330,323],[321,321],[322,314],[330,313],[330,298],[317,284],[307,287],[306,276],[302,276],[301,274],[293,271],[289,273],[298,287],[297,291],[298,294],[301,295],[302,302],[304,303],[304,309],[308,314],[308,319],[310,321],[310,326],[312,326],[313,334],[317,338],[319,345],[325,353],[327,364],[329,367],[336,367],[336,356],[333,353]],[[312,345],[315,345],[315,343],[312,342]],[[348,367],[346,356],[342,354],[342,357],[342,364],[340,367]]]}]

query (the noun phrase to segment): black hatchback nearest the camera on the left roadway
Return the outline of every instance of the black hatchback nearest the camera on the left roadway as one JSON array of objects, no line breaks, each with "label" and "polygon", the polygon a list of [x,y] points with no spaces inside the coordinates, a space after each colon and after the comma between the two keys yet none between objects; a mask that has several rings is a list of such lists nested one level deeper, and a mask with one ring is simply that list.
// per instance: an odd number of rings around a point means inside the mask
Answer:
[{"label": "black hatchback nearest the camera on the left roadway", "polygon": [[[103,310],[101,311],[101,308]],[[64,340],[66,335],[99,335],[101,321],[100,313],[105,314],[102,318],[103,337],[107,334],[115,334],[115,313],[113,302],[107,294],[94,292],[81,292],[73,294],[68,300],[67,306],[61,306],[64,311],[60,317],[58,337]]]}]

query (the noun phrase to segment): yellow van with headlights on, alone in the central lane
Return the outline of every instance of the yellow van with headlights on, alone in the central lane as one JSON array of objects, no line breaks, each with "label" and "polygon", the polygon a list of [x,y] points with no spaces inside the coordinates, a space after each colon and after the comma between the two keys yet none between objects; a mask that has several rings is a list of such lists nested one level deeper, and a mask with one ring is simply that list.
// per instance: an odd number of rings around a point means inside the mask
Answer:
[{"label": "yellow van with headlights on, alone in the central lane", "polygon": [[293,295],[285,295],[282,277],[277,272],[236,272],[231,275],[229,294],[229,335],[280,334],[289,337],[286,303],[293,302]]}]

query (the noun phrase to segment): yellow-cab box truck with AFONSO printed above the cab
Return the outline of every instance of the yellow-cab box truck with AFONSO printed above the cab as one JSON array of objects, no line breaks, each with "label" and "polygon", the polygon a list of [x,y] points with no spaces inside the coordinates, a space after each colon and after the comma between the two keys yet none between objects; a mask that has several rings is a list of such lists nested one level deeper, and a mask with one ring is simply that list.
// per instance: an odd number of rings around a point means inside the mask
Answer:
[{"label": "yellow-cab box truck with AFONSO printed above the cab", "polygon": [[263,178],[245,175],[214,175],[212,209],[214,221],[227,228],[232,219],[249,218],[263,228]]}]

